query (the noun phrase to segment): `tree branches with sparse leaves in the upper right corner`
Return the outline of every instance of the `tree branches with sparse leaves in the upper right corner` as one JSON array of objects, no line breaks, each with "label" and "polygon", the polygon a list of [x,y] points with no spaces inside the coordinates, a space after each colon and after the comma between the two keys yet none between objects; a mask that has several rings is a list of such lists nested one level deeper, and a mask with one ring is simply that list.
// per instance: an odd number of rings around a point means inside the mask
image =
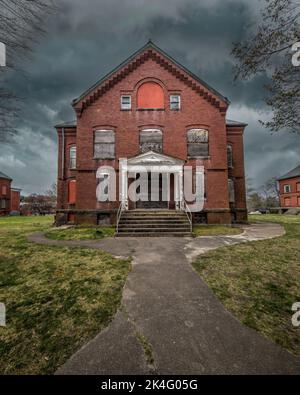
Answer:
[{"label": "tree branches with sparse leaves in the upper right corner", "polygon": [[235,43],[235,79],[267,72],[266,104],[273,112],[261,123],[272,132],[300,133],[300,67],[292,65],[292,46],[300,41],[300,1],[265,0],[262,22],[246,42]]}]

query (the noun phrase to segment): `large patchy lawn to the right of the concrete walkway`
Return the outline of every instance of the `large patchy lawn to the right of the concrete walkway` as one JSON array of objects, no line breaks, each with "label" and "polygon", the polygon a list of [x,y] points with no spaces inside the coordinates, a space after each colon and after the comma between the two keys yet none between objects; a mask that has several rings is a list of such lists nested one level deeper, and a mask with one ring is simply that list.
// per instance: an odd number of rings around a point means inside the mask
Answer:
[{"label": "large patchy lawn to the right of the concrete walkway", "polygon": [[222,247],[193,264],[240,321],[300,356],[299,328],[291,323],[300,302],[300,216],[258,215],[250,221],[284,225],[282,237]]}]

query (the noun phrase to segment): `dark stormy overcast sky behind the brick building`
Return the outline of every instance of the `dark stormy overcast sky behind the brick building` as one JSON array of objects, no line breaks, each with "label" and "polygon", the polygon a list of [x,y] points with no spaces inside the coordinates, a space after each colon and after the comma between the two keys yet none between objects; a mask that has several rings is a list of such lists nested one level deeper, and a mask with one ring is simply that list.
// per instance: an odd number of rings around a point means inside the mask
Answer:
[{"label": "dark stormy overcast sky behind the brick building", "polygon": [[57,0],[47,34],[6,83],[24,99],[14,144],[0,146],[0,171],[25,194],[56,181],[58,122],[75,119],[70,105],[86,88],[151,38],[159,47],[231,100],[228,118],[249,124],[246,173],[258,188],[300,164],[300,136],[271,135],[259,119],[265,75],[233,83],[232,42],[245,39],[264,1],[252,0]]}]

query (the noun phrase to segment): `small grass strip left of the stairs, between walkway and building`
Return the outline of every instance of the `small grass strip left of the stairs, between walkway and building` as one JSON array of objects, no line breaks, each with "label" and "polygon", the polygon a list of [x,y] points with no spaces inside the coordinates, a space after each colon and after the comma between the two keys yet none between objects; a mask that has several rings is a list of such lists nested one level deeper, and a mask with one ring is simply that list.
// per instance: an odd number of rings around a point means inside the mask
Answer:
[{"label": "small grass strip left of the stairs, between walkway and building", "polygon": [[112,227],[72,227],[67,229],[51,229],[45,236],[52,240],[96,240],[113,237]]}]

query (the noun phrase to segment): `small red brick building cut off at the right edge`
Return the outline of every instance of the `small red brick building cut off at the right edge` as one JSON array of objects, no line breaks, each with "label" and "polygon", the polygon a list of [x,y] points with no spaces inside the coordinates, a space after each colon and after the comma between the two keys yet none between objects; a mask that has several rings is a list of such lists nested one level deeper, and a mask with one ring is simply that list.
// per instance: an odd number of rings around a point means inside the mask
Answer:
[{"label": "small red brick building cut off at the right edge", "polygon": [[300,208],[300,166],[278,179],[280,207]]}]

